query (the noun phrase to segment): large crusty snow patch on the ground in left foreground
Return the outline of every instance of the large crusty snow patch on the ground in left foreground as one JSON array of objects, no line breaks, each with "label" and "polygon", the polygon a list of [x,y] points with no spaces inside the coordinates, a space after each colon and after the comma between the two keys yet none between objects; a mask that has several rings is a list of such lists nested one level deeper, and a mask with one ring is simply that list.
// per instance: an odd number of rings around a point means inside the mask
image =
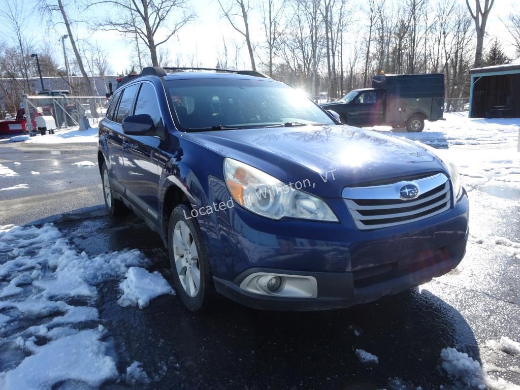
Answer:
[{"label": "large crusty snow patch on the ground in left foreground", "polygon": [[[0,226],[0,361],[19,357],[0,372],[0,388],[54,388],[62,381],[99,386],[118,378],[94,307],[96,285],[147,263],[137,250],[80,253],[53,225]],[[144,280],[135,279],[134,290],[146,291],[138,281]],[[136,365],[125,375],[147,380]]]}]

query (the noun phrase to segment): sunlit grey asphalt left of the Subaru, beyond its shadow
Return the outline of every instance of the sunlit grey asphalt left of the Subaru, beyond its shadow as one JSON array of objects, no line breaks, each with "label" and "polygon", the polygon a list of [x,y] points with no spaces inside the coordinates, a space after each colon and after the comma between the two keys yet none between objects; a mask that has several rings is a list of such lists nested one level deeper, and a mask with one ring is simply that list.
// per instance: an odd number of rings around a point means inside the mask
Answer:
[{"label": "sunlit grey asphalt left of the Subaru, beyond its shadow", "polygon": [[[74,165],[82,161],[96,165]],[[0,142],[0,164],[17,173],[0,176],[0,225],[27,224],[103,202],[95,144]],[[21,184],[28,188],[2,190]]]}]

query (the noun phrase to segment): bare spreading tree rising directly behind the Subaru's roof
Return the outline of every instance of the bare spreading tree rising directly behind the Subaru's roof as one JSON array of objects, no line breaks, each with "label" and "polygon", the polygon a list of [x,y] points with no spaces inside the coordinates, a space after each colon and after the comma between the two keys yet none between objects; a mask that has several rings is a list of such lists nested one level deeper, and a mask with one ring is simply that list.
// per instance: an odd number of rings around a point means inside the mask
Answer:
[{"label": "bare spreading tree rising directly behind the Subaru's roof", "polygon": [[[148,47],[154,67],[159,66],[158,46],[166,43],[195,18],[193,11],[187,7],[187,0],[89,0],[89,7],[98,4],[109,4],[113,9],[97,23],[97,28],[138,37]],[[176,11],[181,15],[176,22],[171,22],[171,15]],[[160,29],[168,32],[157,42],[155,38]]]}]

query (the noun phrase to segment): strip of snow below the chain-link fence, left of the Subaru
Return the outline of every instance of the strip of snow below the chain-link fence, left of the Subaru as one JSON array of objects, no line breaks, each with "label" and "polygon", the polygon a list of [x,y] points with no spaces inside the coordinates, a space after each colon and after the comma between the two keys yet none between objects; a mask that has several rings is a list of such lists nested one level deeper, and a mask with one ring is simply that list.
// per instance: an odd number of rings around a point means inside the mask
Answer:
[{"label": "strip of snow below the chain-link fence, left of the Subaru", "polygon": [[[91,121],[92,122],[92,121]],[[55,134],[36,135],[17,135],[15,137],[5,138],[0,142],[26,142],[27,144],[70,144],[72,142],[93,142],[98,141],[97,123],[90,123],[90,128],[80,131],[79,126],[68,129],[56,129]]]}]

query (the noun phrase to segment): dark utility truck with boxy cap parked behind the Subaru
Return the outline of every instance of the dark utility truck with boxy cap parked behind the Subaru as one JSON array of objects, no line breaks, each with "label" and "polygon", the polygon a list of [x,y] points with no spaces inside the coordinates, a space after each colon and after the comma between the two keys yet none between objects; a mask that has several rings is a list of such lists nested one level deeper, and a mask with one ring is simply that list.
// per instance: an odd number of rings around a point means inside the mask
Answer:
[{"label": "dark utility truck with boxy cap parked behind the Subaru", "polygon": [[422,132],[424,120],[443,119],[444,74],[382,74],[372,88],[354,89],[321,107],[353,126],[389,125]]}]

